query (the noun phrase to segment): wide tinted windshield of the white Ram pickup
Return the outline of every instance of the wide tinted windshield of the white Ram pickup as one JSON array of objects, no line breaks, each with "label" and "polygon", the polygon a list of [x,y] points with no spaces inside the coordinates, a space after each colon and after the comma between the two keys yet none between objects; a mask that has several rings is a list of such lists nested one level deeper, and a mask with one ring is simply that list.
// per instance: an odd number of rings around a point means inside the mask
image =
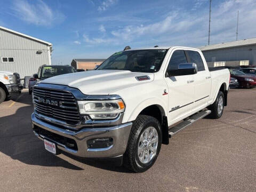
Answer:
[{"label": "wide tinted windshield of the white Ram pickup", "polygon": [[166,49],[121,51],[111,55],[97,70],[154,73],[160,69],[166,53]]}]

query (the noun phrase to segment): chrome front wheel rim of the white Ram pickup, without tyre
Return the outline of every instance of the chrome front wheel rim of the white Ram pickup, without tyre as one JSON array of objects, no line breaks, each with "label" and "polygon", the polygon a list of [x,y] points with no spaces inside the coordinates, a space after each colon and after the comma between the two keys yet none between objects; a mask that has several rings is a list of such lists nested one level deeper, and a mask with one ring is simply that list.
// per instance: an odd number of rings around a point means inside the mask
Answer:
[{"label": "chrome front wheel rim of the white Ram pickup, without tyre", "polygon": [[155,156],[158,146],[158,133],[155,127],[148,127],[140,135],[138,156],[141,163],[150,162]]}]

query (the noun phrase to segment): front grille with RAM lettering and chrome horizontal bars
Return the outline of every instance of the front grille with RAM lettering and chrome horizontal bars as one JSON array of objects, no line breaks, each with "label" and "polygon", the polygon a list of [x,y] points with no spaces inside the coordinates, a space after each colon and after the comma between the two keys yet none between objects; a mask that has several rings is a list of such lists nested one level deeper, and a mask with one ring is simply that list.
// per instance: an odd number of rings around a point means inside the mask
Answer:
[{"label": "front grille with RAM lettering and chrome horizontal bars", "polygon": [[33,93],[36,113],[67,125],[76,125],[80,122],[76,100],[70,92],[35,86]]}]

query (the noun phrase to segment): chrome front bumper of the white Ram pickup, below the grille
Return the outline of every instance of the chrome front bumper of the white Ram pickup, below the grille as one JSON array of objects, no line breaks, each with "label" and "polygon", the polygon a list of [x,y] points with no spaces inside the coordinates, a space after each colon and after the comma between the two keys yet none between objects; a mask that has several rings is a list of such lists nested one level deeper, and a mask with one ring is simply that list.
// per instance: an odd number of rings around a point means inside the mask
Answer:
[{"label": "chrome front bumper of the white Ram pickup, below the grille", "polygon": [[[132,123],[125,123],[111,127],[86,127],[80,131],[71,131],[67,129],[60,129],[58,126],[46,123],[41,119],[37,118],[33,113],[31,115],[32,127],[38,126],[41,129],[50,131],[52,133],[61,135],[62,137],[74,139],[77,144],[77,150],[70,149],[67,146],[46,138],[45,135],[35,133],[35,135],[41,139],[47,139],[57,144],[58,149],[66,151],[67,153],[79,156],[79,157],[90,157],[90,158],[102,158],[102,157],[115,157],[123,155],[126,150],[127,142],[129,139]],[[87,140],[96,138],[113,138],[113,145],[107,148],[90,149],[87,148]]]}]

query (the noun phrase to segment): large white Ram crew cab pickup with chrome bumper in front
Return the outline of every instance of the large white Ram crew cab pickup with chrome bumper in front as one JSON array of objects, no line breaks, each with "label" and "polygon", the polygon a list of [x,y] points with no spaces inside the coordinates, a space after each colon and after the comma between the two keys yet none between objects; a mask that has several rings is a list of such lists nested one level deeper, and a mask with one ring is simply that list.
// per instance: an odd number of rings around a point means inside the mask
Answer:
[{"label": "large white Ram crew cab pickup with chrome bumper in front", "polygon": [[33,131],[51,153],[115,158],[143,172],[173,134],[221,117],[229,79],[228,69],[209,70],[198,49],[125,49],[97,70],[36,84]]}]

